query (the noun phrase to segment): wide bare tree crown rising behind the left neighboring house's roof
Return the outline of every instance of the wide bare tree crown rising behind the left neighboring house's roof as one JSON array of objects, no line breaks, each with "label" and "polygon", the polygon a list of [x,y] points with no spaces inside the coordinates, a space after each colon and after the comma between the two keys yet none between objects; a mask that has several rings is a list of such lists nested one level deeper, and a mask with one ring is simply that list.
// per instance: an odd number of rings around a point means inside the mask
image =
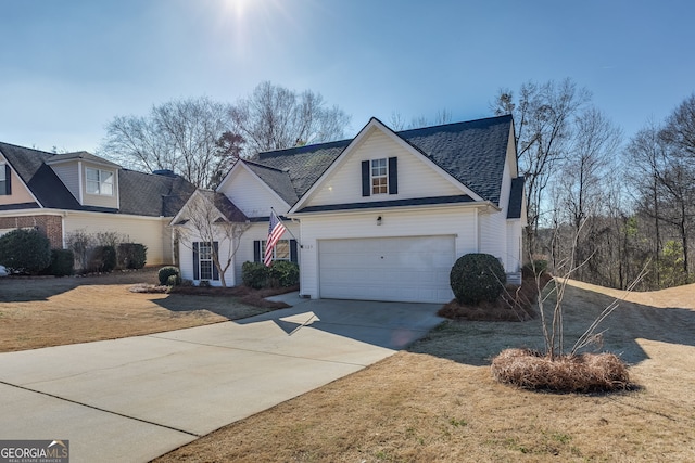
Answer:
[{"label": "wide bare tree crown rising behind the left neighboring house's roof", "polygon": [[175,100],[153,106],[147,117],[114,118],[101,151],[126,167],[169,169],[197,187],[214,188],[233,162],[219,146],[230,127],[228,104],[206,97]]}]

